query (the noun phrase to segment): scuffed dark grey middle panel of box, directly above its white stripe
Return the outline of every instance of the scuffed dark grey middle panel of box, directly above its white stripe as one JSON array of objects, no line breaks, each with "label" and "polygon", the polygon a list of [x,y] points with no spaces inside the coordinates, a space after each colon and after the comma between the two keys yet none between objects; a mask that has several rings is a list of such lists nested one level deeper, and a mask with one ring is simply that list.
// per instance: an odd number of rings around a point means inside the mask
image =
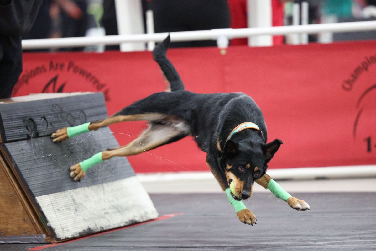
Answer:
[{"label": "scuffed dark grey middle panel of box, directly above its white stripe", "polygon": [[50,137],[38,137],[4,143],[0,148],[5,147],[5,152],[35,197],[135,176],[126,158],[113,158],[88,170],[81,182],[71,179],[70,166],[97,152],[119,146],[108,127],[101,131],[88,132],[61,143],[53,143]]}]

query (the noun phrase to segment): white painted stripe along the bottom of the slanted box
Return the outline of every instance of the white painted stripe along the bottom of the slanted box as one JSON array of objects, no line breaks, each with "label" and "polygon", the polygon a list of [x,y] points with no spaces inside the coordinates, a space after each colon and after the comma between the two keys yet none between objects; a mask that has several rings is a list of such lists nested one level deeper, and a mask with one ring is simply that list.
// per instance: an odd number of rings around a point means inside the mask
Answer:
[{"label": "white painted stripe along the bottom of the slanted box", "polygon": [[56,238],[122,227],[158,218],[136,176],[36,197]]}]

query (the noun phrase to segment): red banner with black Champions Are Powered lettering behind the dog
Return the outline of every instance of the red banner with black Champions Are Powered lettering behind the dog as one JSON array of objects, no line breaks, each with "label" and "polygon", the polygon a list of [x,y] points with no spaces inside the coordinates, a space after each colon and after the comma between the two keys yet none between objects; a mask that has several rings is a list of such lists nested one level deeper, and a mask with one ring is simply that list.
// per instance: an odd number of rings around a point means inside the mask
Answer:
[{"label": "red banner with black Champions Are Powered lettering behind the dog", "polygon": [[[268,140],[283,140],[270,168],[376,164],[376,43],[170,49],[186,90],[241,91],[260,106]],[[150,52],[25,53],[14,96],[102,91],[109,115],[164,80]],[[144,122],[110,126],[120,145]],[[95,136],[93,136],[95,137]],[[83,142],[84,144],[84,142]],[[192,138],[131,156],[136,172],[208,170]]]}]

